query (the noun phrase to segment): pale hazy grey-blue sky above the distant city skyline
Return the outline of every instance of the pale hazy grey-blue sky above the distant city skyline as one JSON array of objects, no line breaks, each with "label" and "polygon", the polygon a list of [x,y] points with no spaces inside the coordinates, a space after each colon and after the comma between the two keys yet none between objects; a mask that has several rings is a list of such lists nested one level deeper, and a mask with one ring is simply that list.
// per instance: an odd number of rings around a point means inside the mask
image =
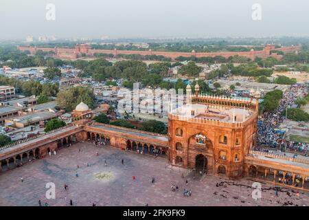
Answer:
[{"label": "pale hazy grey-blue sky above the distant city skyline", "polygon": [[[56,20],[47,21],[47,3]],[[253,21],[252,5],[262,6]],[[308,0],[0,0],[0,39],[309,36]]]}]

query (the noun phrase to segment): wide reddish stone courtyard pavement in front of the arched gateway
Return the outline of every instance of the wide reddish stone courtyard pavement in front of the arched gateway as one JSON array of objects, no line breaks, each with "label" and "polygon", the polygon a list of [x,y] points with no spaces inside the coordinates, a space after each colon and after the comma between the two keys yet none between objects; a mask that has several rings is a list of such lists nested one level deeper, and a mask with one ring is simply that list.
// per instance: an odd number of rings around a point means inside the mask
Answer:
[{"label": "wide reddish stone courtyard pavement in front of the arched gateway", "polygon": [[[73,206],[309,206],[308,192],[300,191],[297,197],[295,190],[281,188],[276,197],[273,186],[262,184],[262,197],[255,201],[251,196],[253,181],[213,175],[201,181],[187,173],[185,169],[171,168],[161,157],[78,143],[61,149],[57,155],[1,173],[0,206],[38,206],[39,199],[43,206],[45,202],[49,206],[69,206],[70,199]],[[56,185],[56,199],[45,197],[48,182]],[[172,192],[172,184],[179,190]],[[184,188],[192,190],[191,197],[183,196]]]}]

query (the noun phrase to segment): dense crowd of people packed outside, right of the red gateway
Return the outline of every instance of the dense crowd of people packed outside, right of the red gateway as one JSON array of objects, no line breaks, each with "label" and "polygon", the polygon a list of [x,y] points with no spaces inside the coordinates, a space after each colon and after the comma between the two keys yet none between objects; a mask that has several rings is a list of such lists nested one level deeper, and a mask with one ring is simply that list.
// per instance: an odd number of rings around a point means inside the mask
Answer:
[{"label": "dense crowd of people packed outside, right of the red gateway", "polygon": [[308,149],[308,144],[306,143],[282,140],[284,133],[276,131],[279,124],[285,118],[282,115],[282,111],[288,107],[292,107],[303,90],[304,85],[292,85],[284,92],[283,98],[279,102],[279,107],[275,111],[264,111],[262,113],[262,123],[258,123],[258,144],[278,148],[281,151],[284,151],[284,149],[290,149],[290,151],[306,151]]}]

